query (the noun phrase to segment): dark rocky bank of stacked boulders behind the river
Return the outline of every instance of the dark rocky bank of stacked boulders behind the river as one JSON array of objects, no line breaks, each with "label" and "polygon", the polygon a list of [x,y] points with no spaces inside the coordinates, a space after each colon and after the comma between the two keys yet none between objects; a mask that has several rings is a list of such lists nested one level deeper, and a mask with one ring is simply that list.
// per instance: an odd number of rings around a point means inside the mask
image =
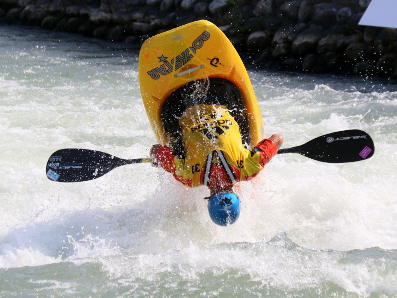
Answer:
[{"label": "dark rocky bank of stacked boulders behind the river", "polygon": [[397,29],[359,26],[370,0],[0,0],[3,24],[143,40],[207,19],[246,63],[308,73],[397,78]]}]

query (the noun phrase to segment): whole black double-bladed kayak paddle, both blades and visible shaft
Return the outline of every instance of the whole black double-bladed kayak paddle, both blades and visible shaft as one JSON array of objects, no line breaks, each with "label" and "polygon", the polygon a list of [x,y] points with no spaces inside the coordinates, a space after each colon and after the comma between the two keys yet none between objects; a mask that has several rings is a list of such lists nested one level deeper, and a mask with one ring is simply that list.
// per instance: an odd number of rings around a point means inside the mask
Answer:
[{"label": "whole black double-bladed kayak paddle, both blades and visible shaft", "polygon": [[[371,137],[360,130],[327,134],[301,146],[279,149],[281,153],[299,153],[323,162],[352,162],[370,158],[375,151]],[[116,167],[150,162],[150,158],[122,159],[88,149],[60,149],[47,162],[46,173],[57,182],[80,182],[99,178]]]}]

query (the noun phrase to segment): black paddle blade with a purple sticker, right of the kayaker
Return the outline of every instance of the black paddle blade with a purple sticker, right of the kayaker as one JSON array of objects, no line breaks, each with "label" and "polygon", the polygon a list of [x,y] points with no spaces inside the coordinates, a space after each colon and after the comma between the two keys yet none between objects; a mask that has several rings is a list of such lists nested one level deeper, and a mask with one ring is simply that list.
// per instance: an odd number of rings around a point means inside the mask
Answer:
[{"label": "black paddle blade with a purple sticker, right of the kayaker", "polygon": [[360,161],[374,155],[371,137],[361,130],[345,130],[317,137],[301,146],[280,149],[277,153],[299,153],[330,163]]}]

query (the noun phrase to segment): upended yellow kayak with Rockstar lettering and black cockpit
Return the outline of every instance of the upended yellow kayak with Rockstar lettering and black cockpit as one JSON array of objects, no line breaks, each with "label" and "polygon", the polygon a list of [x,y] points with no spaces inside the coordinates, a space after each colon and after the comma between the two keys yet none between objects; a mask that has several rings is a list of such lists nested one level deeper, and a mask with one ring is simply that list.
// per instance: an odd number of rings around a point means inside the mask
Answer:
[{"label": "upended yellow kayak with Rockstar lettering and black cockpit", "polygon": [[247,147],[265,138],[247,70],[226,35],[209,21],[147,39],[139,53],[139,83],[147,117],[162,145],[172,144],[180,131],[179,117],[195,103],[225,105]]}]

